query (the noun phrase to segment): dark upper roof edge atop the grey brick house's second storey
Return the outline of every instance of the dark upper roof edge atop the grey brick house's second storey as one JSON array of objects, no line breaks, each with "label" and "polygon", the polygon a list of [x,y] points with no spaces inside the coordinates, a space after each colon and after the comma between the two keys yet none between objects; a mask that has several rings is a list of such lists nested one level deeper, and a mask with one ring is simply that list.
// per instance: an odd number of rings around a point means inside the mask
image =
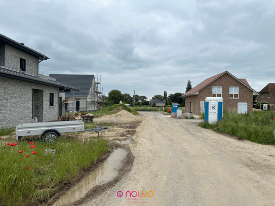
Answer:
[{"label": "dark upper roof edge atop the grey brick house's second storey", "polygon": [[21,50],[27,54],[30,54],[32,56],[35,56],[37,58],[39,58],[40,60],[47,60],[49,59],[49,57],[47,57],[46,55],[44,54],[41,54],[33,49],[30,49],[29,47],[26,47],[23,43],[19,43],[19,42],[16,42],[15,40],[3,35],[0,33],[0,42],[3,42],[7,45],[10,45],[11,47],[14,47],[18,50]]}]

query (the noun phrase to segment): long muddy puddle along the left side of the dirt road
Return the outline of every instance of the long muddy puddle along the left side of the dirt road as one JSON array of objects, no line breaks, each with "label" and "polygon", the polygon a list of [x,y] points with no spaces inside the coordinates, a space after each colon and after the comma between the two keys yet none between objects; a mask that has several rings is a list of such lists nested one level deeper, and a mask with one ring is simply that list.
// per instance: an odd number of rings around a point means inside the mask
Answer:
[{"label": "long muddy puddle along the left side of the dirt road", "polygon": [[112,154],[91,174],[84,177],[79,183],[67,190],[53,206],[62,206],[85,196],[96,185],[103,185],[117,176],[117,169],[126,156],[124,149],[115,149]]}]

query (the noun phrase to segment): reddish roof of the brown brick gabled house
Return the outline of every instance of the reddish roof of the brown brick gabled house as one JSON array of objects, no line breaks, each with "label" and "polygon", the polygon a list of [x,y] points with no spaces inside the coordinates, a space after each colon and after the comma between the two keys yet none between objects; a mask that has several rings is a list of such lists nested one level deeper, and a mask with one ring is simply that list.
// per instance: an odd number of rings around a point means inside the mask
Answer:
[{"label": "reddish roof of the brown brick gabled house", "polygon": [[202,90],[203,88],[205,88],[207,85],[209,85],[210,83],[212,83],[214,80],[216,80],[217,78],[221,77],[225,73],[229,74],[230,76],[232,76],[236,80],[240,81],[240,83],[242,83],[243,85],[245,85],[246,87],[248,87],[249,89],[251,89],[253,91],[253,95],[254,94],[256,94],[256,95],[258,94],[255,90],[253,90],[250,87],[250,85],[248,84],[248,82],[247,82],[247,80],[245,78],[240,78],[239,79],[239,78],[233,76],[232,74],[230,74],[228,71],[224,71],[224,72],[221,72],[221,73],[219,73],[219,74],[217,74],[215,76],[212,76],[210,78],[205,79],[202,83],[200,83],[199,85],[195,86],[194,88],[192,88],[191,90],[189,90],[185,94],[181,95],[181,97],[186,97],[186,96],[190,96],[190,95],[197,95],[200,90]]}]

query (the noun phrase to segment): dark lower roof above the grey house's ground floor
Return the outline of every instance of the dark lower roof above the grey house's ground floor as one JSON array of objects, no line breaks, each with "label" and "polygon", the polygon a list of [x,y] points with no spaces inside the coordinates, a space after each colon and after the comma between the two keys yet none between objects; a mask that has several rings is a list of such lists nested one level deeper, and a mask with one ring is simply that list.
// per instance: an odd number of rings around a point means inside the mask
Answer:
[{"label": "dark lower roof above the grey house's ground floor", "polygon": [[30,74],[14,71],[11,69],[6,69],[3,67],[0,67],[0,76],[7,77],[7,78],[13,78],[13,79],[18,79],[18,80],[23,80],[23,81],[29,81],[32,83],[36,84],[42,84],[42,85],[48,85],[52,87],[59,87],[61,89],[65,89],[66,91],[79,91],[80,88],[73,87],[67,84],[59,83],[58,81],[53,81],[45,78],[41,78],[38,76],[32,76]]}]

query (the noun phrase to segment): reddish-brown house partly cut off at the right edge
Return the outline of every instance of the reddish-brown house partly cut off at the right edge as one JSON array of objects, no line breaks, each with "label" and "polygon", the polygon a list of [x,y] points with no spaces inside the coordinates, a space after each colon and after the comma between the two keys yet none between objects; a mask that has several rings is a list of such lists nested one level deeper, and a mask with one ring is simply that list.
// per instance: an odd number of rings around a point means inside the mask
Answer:
[{"label": "reddish-brown house partly cut off at the right edge", "polygon": [[[255,99],[255,103],[257,102],[269,102],[269,104],[275,104],[275,83],[269,83],[266,85],[260,92],[257,98]],[[271,107],[271,109],[275,109],[275,105]]]}]

